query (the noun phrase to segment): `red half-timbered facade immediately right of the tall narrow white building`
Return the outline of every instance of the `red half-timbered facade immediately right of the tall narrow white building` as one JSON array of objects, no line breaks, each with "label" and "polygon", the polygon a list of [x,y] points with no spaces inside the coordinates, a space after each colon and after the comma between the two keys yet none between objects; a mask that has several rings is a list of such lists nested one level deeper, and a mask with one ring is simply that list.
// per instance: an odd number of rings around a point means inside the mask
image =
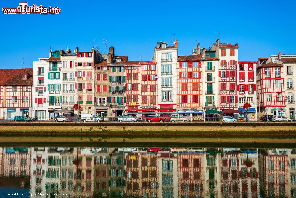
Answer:
[{"label": "red half-timbered facade immediately right of the tall narrow white building", "polygon": [[198,55],[178,56],[177,104],[181,109],[202,106],[201,61]]}]

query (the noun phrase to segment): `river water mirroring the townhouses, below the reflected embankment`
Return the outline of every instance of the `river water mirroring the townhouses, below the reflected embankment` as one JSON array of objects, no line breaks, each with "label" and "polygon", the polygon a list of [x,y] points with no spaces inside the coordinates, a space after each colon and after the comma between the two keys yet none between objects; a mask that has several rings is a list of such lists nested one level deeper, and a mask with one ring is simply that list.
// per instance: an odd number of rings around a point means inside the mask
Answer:
[{"label": "river water mirroring the townhouses, below the reflected embankment", "polygon": [[296,149],[0,147],[0,197],[296,197]]}]

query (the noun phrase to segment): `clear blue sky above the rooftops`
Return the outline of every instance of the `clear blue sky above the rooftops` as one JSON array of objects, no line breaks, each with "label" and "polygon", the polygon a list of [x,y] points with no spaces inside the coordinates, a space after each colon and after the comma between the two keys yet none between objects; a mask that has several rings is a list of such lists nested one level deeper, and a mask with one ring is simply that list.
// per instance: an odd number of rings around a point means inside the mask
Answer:
[{"label": "clear blue sky above the rooftops", "polygon": [[[101,53],[113,45],[116,55],[149,60],[157,41],[179,40],[179,55],[190,55],[200,42],[239,44],[239,60],[257,61],[271,54],[296,54],[295,1],[29,1],[59,7],[61,14],[4,15],[1,11],[0,68],[32,67],[49,56],[49,46],[90,50],[92,40]],[[2,1],[17,7],[19,1]]]}]

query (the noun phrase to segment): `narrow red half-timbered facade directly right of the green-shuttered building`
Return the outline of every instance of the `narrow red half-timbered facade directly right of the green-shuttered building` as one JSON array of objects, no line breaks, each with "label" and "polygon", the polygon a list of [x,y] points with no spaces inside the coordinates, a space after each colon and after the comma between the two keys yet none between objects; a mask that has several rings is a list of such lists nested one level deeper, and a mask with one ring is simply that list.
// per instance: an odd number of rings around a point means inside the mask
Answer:
[{"label": "narrow red half-timbered facade directly right of the green-shuttered building", "polygon": [[139,61],[126,61],[126,109],[139,109],[140,64]]}]

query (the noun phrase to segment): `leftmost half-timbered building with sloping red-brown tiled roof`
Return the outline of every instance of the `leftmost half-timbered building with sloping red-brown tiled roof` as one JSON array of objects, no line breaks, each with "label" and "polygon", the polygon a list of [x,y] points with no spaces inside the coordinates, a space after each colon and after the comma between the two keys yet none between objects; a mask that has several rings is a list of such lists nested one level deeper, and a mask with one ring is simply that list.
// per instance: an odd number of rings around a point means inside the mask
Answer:
[{"label": "leftmost half-timbered building with sloping red-brown tiled roof", "polygon": [[1,69],[0,117],[31,117],[33,69]]}]

